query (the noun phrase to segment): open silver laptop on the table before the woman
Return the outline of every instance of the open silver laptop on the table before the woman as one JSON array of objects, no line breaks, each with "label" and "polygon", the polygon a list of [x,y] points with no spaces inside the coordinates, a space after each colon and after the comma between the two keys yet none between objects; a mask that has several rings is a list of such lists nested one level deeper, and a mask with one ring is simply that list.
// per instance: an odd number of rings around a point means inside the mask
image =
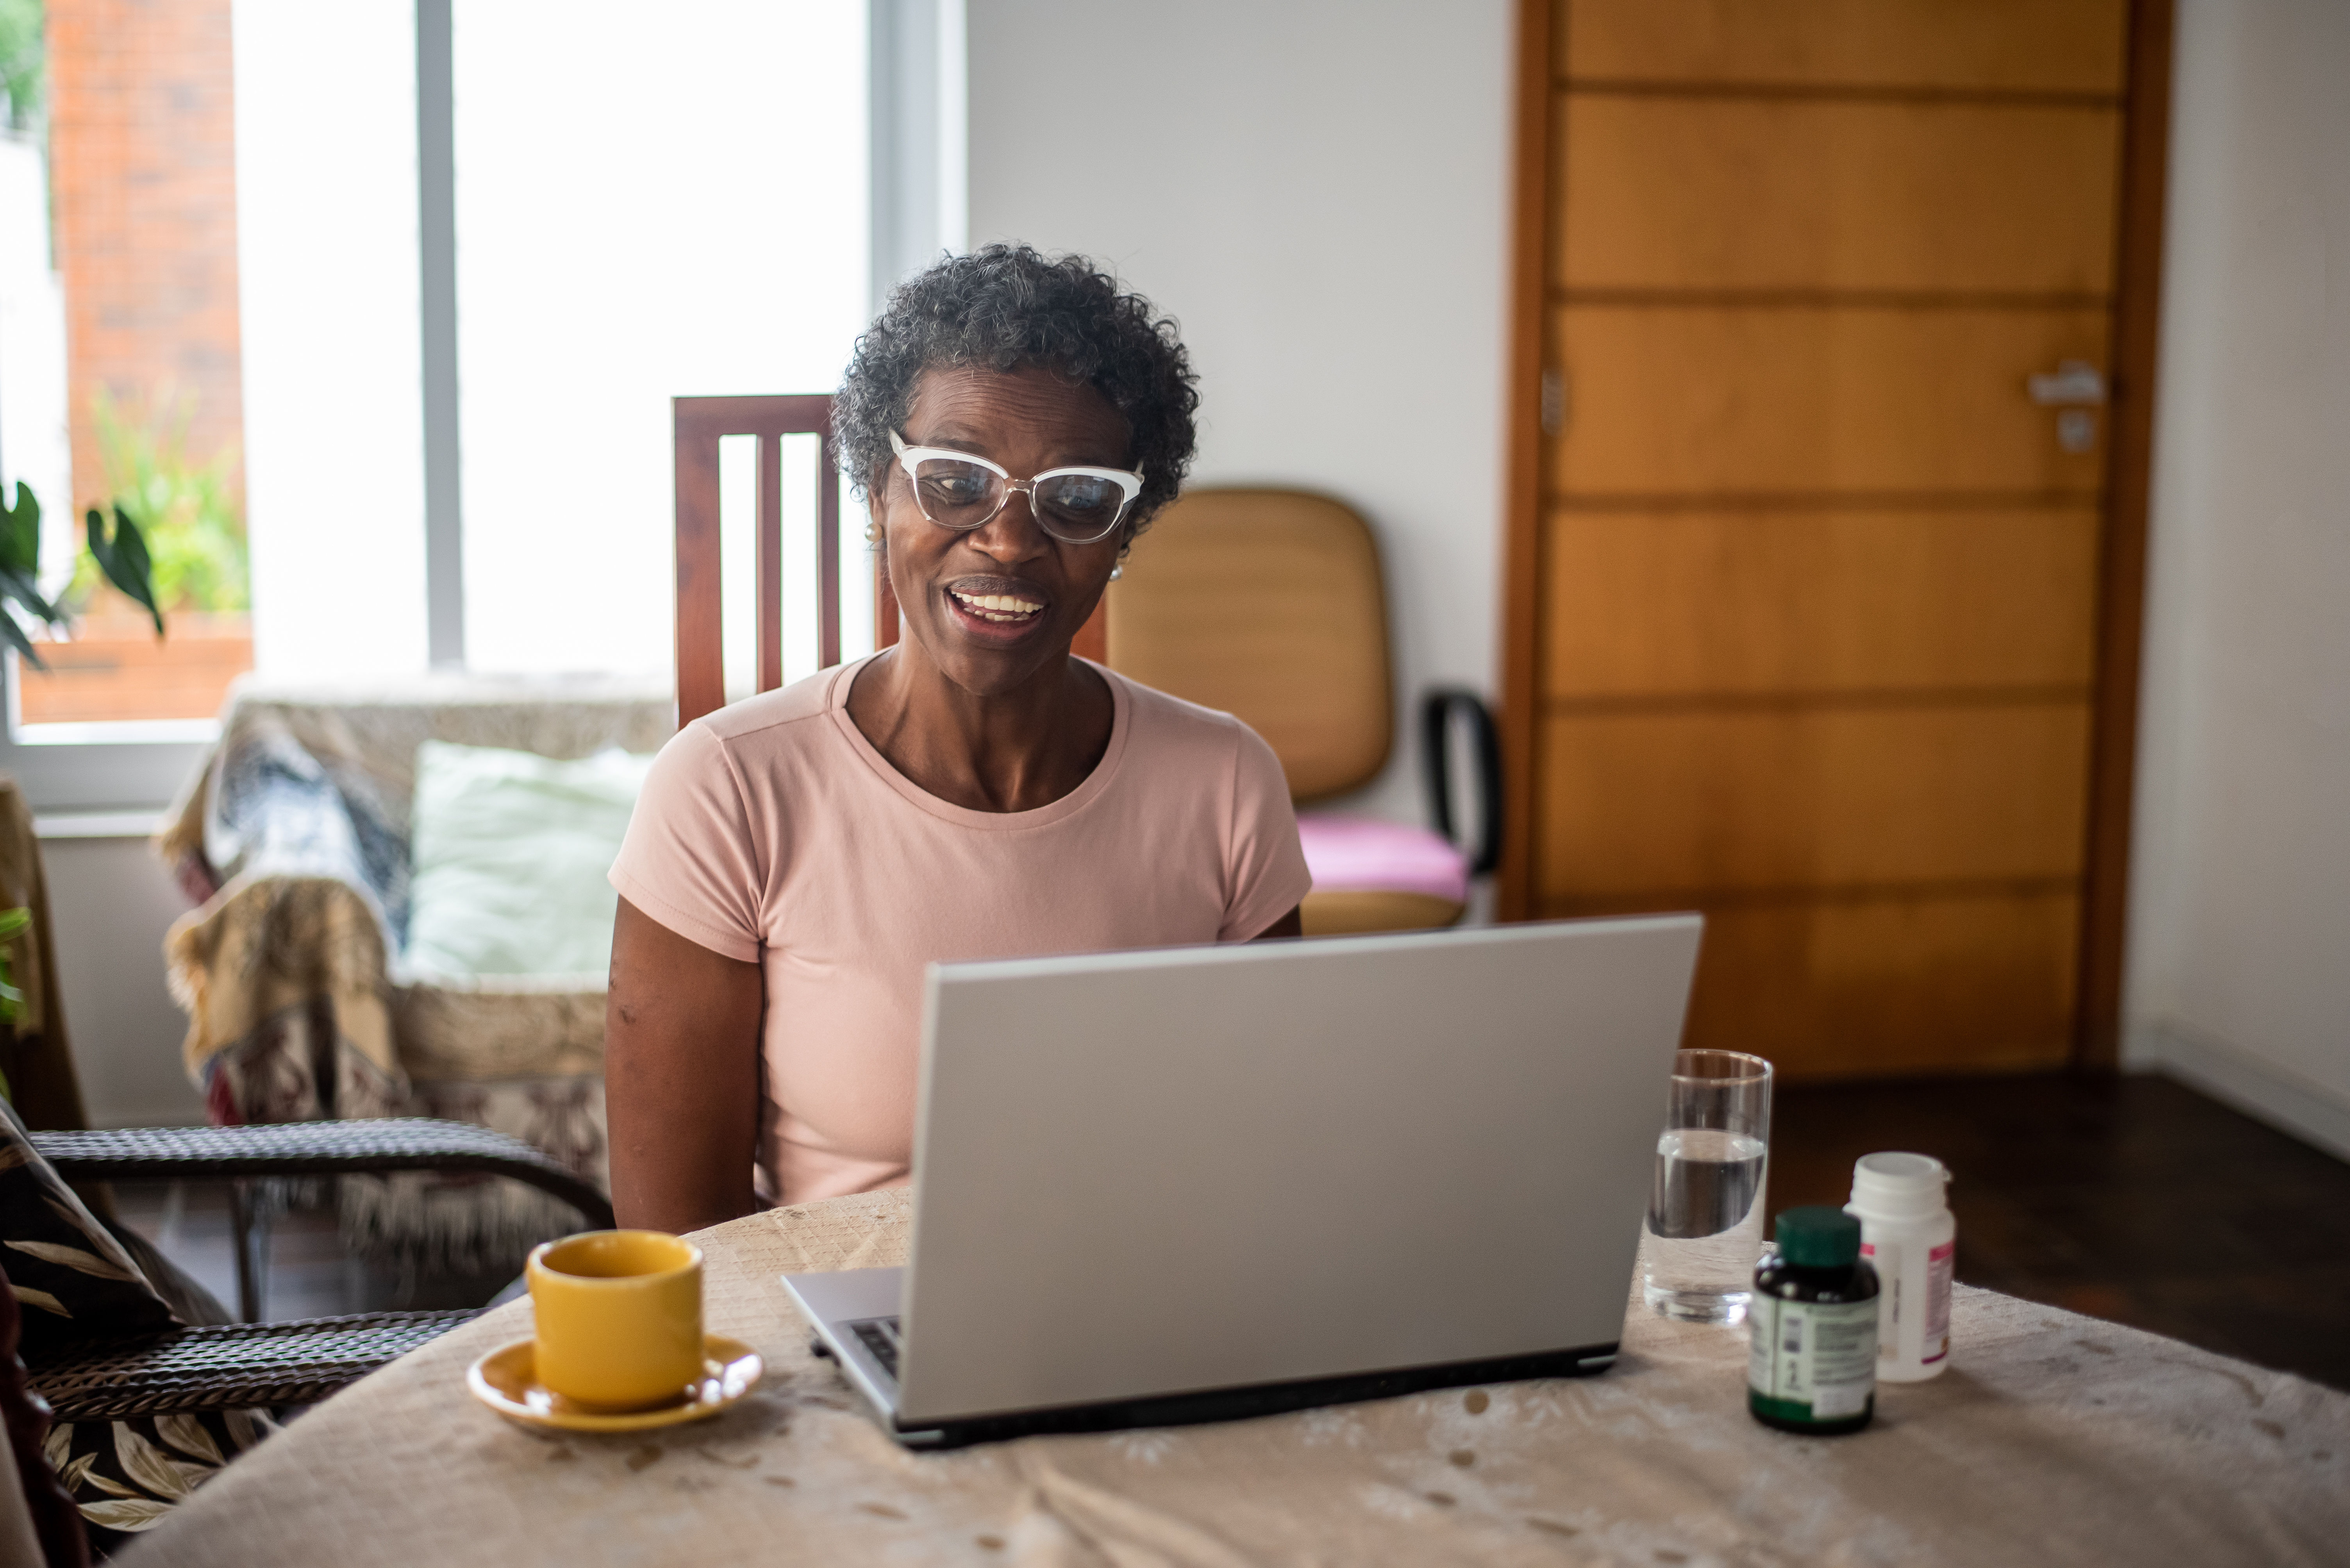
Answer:
[{"label": "open silver laptop on the table before the woman", "polygon": [[938,965],[909,1263],[785,1286],[907,1446],[1598,1371],[1699,932]]}]

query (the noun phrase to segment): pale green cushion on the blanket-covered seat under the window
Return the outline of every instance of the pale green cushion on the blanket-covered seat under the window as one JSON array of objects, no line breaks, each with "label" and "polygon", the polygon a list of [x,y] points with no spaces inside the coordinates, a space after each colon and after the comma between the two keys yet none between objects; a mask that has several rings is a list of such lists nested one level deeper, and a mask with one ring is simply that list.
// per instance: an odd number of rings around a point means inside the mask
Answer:
[{"label": "pale green cushion on the blanket-covered seat under the window", "polygon": [[651,756],[562,761],[428,739],[411,810],[411,976],[595,974],[618,894],[604,873]]}]

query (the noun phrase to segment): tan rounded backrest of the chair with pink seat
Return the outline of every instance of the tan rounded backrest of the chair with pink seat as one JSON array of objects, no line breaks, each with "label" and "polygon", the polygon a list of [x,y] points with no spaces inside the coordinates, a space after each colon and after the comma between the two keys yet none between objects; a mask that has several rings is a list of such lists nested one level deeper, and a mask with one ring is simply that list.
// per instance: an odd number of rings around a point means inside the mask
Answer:
[{"label": "tan rounded backrest of the chair with pink seat", "polygon": [[1304,491],[1187,491],[1104,601],[1109,667],[1246,721],[1300,800],[1386,765],[1386,592],[1354,509]]}]

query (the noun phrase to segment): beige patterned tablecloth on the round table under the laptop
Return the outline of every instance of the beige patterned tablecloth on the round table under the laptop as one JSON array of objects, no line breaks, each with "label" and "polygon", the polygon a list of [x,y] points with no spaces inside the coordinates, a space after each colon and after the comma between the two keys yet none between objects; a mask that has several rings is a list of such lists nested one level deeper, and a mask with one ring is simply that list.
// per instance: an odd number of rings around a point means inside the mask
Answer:
[{"label": "beige patterned tablecloth on the round table under the laptop", "polygon": [[658,1437],[545,1437],[465,1394],[515,1303],[237,1460],[160,1563],[2343,1563],[2350,1397],[1990,1291],[1958,1361],[1845,1439],[1755,1425],[1741,1331],[1626,1317],[1598,1378],[912,1455],[776,1282],[905,1256],[907,1197],[696,1237],[759,1394]]}]

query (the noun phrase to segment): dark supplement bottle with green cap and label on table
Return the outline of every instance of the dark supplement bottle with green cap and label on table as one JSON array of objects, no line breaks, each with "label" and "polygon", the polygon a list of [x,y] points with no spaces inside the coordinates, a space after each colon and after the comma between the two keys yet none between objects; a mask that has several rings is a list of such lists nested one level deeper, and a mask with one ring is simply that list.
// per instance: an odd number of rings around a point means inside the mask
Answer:
[{"label": "dark supplement bottle with green cap and label on table", "polygon": [[1842,1209],[1788,1209],[1755,1265],[1746,1408],[1765,1427],[1833,1437],[1878,1408],[1878,1270]]}]

